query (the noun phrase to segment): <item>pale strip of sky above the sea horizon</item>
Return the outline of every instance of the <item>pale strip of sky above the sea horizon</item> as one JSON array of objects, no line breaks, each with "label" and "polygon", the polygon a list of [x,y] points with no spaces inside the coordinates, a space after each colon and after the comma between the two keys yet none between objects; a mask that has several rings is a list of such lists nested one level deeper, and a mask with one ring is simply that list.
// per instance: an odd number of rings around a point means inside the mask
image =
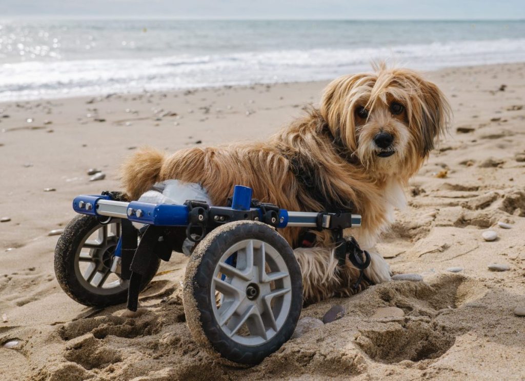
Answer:
[{"label": "pale strip of sky above the sea horizon", "polygon": [[3,17],[525,19],[524,0],[0,0]]}]

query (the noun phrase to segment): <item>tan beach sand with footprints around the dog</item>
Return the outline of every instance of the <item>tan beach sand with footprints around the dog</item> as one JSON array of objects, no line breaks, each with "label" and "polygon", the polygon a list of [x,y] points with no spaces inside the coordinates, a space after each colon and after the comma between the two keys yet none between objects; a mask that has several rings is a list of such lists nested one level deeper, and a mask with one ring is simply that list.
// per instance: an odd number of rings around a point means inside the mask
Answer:
[{"label": "tan beach sand with footprints around the dog", "polygon": [[[394,273],[423,281],[304,308],[319,319],[334,305],[346,313],[247,369],[220,364],[193,341],[182,254],[161,265],[137,313],[93,309],[58,286],[58,236],[48,232],[74,217],[74,196],[119,189],[118,165],[135,147],[264,139],[318,102],[326,82],[0,104],[0,218],[10,218],[0,222],[0,378],[525,379],[525,318],[513,313],[525,307],[524,73],[525,64],[428,73],[449,97],[454,125],[377,245]],[[106,178],[89,182],[92,167]],[[495,241],[481,237],[489,229]],[[490,271],[493,263],[510,270]],[[373,317],[385,307],[404,316]]]}]

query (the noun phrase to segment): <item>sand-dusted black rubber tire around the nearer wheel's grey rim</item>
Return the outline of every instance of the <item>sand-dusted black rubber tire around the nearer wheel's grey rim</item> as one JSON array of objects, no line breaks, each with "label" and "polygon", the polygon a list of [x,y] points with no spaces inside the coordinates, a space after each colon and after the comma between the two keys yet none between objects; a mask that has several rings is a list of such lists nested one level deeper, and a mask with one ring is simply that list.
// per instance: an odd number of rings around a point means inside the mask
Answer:
[{"label": "sand-dusted black rubber tire around the nearer wheel's grey rim", "polygon": [[[277,334],[267,342],[248,346],[230,339],[215,318],[211,297],[211,278],[220,257],[230,246],[246,239],[269,243],[281,255],[288,268],[292,301],[288,318]],[[293,250],[274,229],[261,222],[236,221],[220,226],[209,233],[193,252],[186,268],[183,291],[186,321],[196,342],[208,352],[220,354],[226,360],[245,365],[256,365],[277,351],[290,339],[302,309],[301,270]]]}]

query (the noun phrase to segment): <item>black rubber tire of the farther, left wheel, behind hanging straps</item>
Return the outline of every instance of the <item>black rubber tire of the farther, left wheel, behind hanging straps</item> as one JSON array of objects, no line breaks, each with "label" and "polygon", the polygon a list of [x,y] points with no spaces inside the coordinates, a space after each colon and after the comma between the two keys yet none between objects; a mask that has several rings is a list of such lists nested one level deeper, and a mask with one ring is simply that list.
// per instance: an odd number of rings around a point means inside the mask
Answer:
[{"label": "black rubber tire of the farther, left wheel, behind hanging straps", "polygon": [[[80,245],[88,238],[90,231],[102,226],[96,217],[78,215],[72,219],[60,236],[55,248],[55,275],[58,284],[72,299],[85,306],[105,307],[121,304],[128,299],[128,289],[124,288],[114,294],[97,294],[84,287],[75,272],[75,255]],[[148,272],[143,276],[143,290],[159,270],[161,260],[155,257],[150,262]],[[129,281],[127,281],[129,282]]]}]

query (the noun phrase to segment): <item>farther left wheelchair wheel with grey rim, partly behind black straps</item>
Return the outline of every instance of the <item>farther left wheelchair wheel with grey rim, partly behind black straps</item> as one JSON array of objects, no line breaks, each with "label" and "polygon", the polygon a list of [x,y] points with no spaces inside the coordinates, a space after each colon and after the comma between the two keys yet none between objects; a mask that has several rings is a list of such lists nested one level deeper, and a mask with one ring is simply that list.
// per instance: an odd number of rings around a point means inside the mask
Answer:
[{"label": "farther left wheelchair wheel with grey rim, partly behind black straps", "polygon": [[[98,307],[127,300],[129,281],[120,278],[120,269],[111,271],[120,234],[120,219],[102,225],[96,217],[78,215],[68,223],[55,249],[55,274],[72,299]],[[141,289],[150,283],[159,265],[160,259],[151,261]]]}]

